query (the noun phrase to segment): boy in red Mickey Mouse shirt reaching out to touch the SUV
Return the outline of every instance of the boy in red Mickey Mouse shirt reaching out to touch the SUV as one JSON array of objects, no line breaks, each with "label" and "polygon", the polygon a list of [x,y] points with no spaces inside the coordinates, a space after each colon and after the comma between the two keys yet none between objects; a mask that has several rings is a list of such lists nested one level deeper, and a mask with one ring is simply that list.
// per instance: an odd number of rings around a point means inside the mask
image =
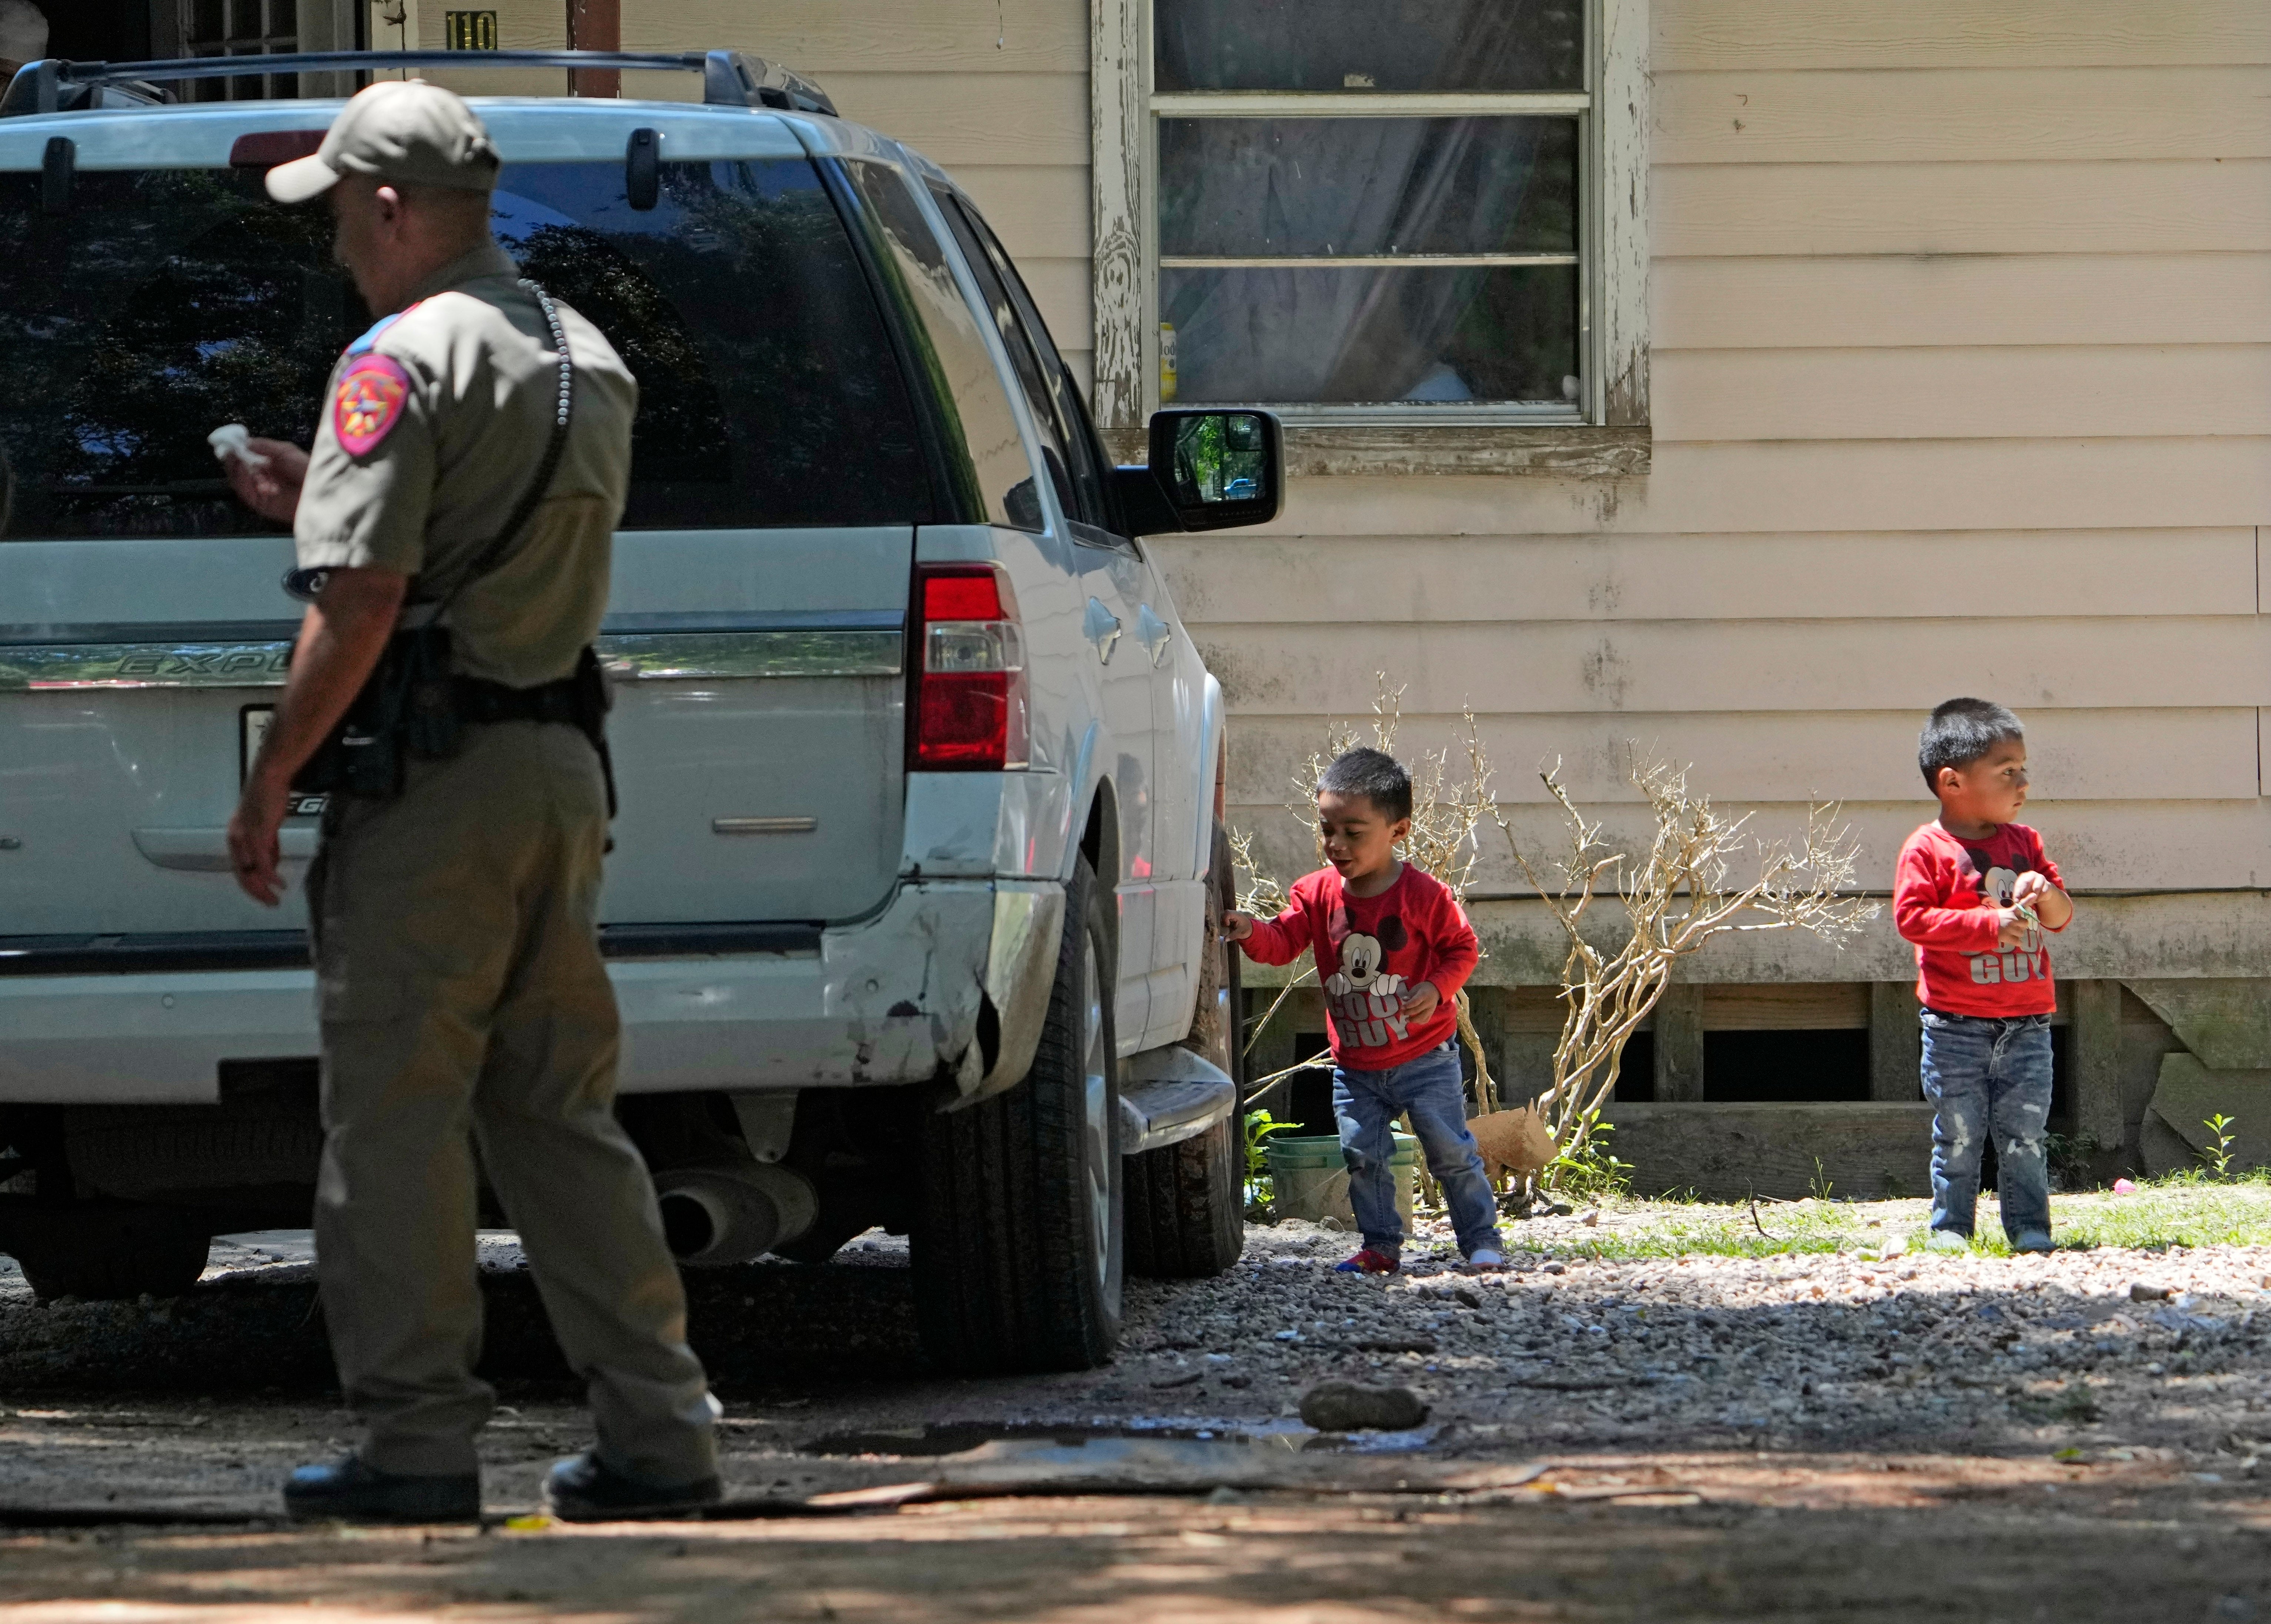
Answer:
[{"label": "boy in red Mickey Mouse shirt reaching out to touch the SUV", "polygon": [[1285,965],[1308,947],[1333,1038],[1333,1115],[1349,1206],[1365,1236],[1344,1274],[1394,1274],[1403,1258],[1392,1124],[1410,1113],[1469,1270],[1503,1270],[1499,1204],[1467,1131],[1458,1070],[1458,988],[1481,947],[1449,886],[1397,859],[1413,829],[1413,779],[1383,750],[1351,750],[1317,781],[1324,861],[1274,920],[1224,913],[1249,959]]}]

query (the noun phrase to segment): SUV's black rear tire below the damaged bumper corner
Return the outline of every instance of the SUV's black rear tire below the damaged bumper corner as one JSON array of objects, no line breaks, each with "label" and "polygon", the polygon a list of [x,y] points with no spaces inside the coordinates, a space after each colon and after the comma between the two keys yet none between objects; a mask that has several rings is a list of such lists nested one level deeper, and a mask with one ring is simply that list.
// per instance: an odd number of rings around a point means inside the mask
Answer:
[{"label": "SUV's black rear tire below the damaged bumper corner", "polygon": [[1120,1342],[1115,963],[1081,859],[1033,1070],[922,1124],[915,1320],[947,1370],[1092,1370]]}]

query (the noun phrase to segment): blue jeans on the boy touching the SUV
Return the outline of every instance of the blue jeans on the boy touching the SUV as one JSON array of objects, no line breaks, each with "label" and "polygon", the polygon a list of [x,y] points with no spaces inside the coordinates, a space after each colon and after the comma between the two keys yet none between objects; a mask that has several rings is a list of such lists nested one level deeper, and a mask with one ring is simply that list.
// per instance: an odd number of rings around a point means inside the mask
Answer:
[{"label": "blue jeans on the boy touching the SUV", "polygon": [[1413,1133],[1426,1152],[1428,1172],[1442,1188],[1458,1231],[1458,1249],[1469,1258],[1499,1240],[1499,1202],[1483,1172],[1483,1154],[1467,1131],[1467,1088],[1458,1074],[1458,1049],[1442,1045],[1417,1061],[1385,1072],[1333,1068],[1333,1115],[1340,1117],[1340,1154],[1349,1163],[1349,1206],[1365,1245],[1390,1256],[1403,1249],[1403,1215],[1397,1213],[1394,1120],[1413,1117]]}]

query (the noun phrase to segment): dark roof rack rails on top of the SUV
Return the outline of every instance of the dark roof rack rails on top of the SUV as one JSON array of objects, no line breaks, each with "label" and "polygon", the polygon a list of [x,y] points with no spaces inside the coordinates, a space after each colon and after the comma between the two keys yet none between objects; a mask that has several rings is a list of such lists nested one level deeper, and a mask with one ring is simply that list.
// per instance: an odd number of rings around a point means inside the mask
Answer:
[{"label": "dark roof rack rails on top of the SUV", "polygon": [[266,73],[379,73],[386,68],[647,68],[699,73],[709,107],[777,107],[836,118],[836,102],[802,73],[738,50],[302,50],[275,57],[177,57],[173,61],[66,61],[45,57],[16,70],[0,118],[59,114],[79,89],[166,79],[236,79]]}]

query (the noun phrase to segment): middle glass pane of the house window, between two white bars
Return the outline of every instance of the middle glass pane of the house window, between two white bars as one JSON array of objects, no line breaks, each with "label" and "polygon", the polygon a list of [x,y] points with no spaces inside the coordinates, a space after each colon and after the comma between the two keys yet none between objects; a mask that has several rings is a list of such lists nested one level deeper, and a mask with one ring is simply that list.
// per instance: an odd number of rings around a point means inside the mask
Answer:
[{"label": "middle glass pane of the house window, between two white bars", "polygon": [[1160,118],[1158,252],[1574,254],[1574,118]]}]

